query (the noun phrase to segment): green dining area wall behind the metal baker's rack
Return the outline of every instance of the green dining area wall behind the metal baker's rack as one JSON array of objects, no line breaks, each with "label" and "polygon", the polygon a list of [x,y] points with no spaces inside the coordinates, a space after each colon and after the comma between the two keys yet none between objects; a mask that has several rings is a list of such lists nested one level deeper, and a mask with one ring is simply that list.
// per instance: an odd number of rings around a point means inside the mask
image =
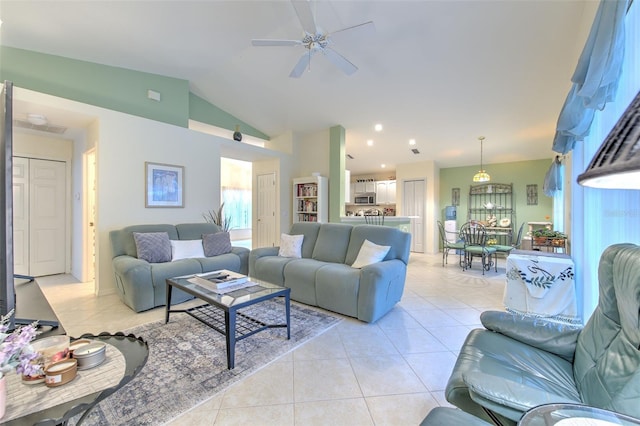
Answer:
[{"label": "green dining area wall behind the metal baker's rack", "polygon": [[[553,199],[542,192],[544,176],[551,165],[549,160],[518,161],[514,163],[485,164],[491,182],[512,183],[517,230],[522,222],[546,222],[553,217]],[[440,169],[440,220],[444,220],[444,208],[451,205],[451,190],[460,188],[460,205],[457,208],[458,224],[467,221],[469,188],[473,185],[473,167]],[[538,185],[538,204],[527,205],[527,185]],[[526,231],[526,226],[525,226]]]}]

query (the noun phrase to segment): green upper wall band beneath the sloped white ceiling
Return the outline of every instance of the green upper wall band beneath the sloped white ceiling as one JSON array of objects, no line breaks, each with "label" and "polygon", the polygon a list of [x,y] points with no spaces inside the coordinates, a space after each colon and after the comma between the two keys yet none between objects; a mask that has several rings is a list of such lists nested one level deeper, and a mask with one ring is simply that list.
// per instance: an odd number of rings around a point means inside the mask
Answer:
[{"label": "green upper wall band beneath the sloped white ceiling", "polygon": [[[0,46],[0,80],[16,87],[180,127],[189,119],[261,139],[267,135],[189,91],[189,81]],[[147,97],[153,90],[160,102]]]}]

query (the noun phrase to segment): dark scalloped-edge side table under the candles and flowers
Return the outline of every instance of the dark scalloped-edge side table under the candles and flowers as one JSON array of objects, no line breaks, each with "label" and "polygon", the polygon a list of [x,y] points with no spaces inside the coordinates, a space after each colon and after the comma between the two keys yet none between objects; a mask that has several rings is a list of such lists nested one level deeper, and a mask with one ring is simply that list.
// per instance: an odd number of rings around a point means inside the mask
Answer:
[{"label": "dark scalloped-edge side table under the candles and flowers", "polygon": [[[102,341],[115,347],[123,355],[125,360],[124,374],[117,382],[115,386],[111,386],[99,391],[90,392],[84,396],[80,396],[76,399],[72,399],[66,402],[62,402],[58,405],[39,408],[37,405],[28,413],[21,417],[13,418],[4,422],[0,419],[3,425],[8,426],[26,426],[26,425],[64,425],[67,424],[69,419],[77,415],[82,415],[77,424],[81,424],[85,417],[89,414],[91,409],[95,407],[100,401],[129,383],[139,372],[142,370],[149,357],[149,346],[142,338],[136,337],[133,334],[125,335],[122,332],[115,334],[100,333],[98,335],[83,334],[79,339],[92,339]],[[71,341],[77,340],[72,338]],[[99,368],[99,367],[96,367]],[[89,370],[87,370],[89,371]],[[40,385],[23,385],[20,386],[40,386]],[[74,385],[73,381],[64,385],[66,389],[71,389]],[[44,386],[44,385],[42,385]],[[60,387],[62,389],[63,387]],[[81,392],[79,392],[81,393]],[[5,418],[9,417],[10,413],[5,413]]]}]

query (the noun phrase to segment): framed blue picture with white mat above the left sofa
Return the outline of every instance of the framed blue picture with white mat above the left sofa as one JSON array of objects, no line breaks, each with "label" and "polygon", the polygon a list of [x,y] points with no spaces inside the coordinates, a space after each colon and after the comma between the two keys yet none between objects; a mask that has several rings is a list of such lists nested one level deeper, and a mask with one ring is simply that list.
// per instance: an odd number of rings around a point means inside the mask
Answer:
[{"label": "framed blue picture with white mat above the left sofa", "polygon": [[144,163],[145,207],[184,207],[184,167]]}]

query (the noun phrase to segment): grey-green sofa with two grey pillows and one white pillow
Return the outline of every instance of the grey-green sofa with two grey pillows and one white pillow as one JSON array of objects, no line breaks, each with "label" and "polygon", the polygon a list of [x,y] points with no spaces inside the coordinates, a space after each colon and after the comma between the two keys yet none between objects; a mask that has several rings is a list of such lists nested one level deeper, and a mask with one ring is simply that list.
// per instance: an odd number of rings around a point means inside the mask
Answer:
[{"label": "grey-green sofa with two grey pillows and one white pillow", "polygon": [[[231,253],[213,257],[180,259],[173,262],[149,263],[138,259],[134,232],[167,232],[171,240],[201,240],[203,235],[219,232],[213,223],[183,223],[178,225],[133,225],[109,233],[113,254],[113,272],[120,299],[136,312],[166,304],[166,279],[198,274],[218,269],[247,274],[249,249],[232,247]],[[174,290],[171,304],[193,296]]]}]

